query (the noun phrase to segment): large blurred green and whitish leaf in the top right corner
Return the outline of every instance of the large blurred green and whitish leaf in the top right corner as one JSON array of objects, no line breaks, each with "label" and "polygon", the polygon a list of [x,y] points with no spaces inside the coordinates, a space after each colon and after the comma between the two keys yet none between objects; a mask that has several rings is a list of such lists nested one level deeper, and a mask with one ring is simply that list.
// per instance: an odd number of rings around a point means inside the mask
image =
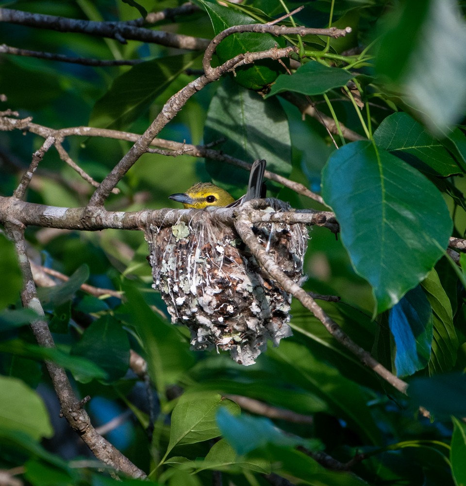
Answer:
[{"label": "large blurred green and whitish leaf in the top right corner", "polygon": [[383,35],[379,72],[437,134],[463,114],[466,102],[466,29],[453,0],[400,2]]}]

